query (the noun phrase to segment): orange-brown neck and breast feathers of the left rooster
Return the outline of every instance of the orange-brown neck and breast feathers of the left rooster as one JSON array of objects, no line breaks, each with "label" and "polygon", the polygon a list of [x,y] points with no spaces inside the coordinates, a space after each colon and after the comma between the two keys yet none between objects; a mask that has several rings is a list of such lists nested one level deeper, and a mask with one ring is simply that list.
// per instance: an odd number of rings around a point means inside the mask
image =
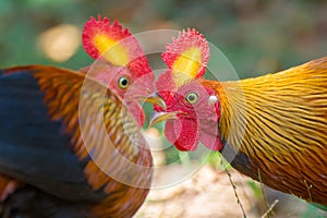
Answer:
[{"label": "orange-brown neck and breast feathers of the left rooster", "polygon": [[[121,99],[78,72],[39,65],[10,72],[21,70],[35,71],[33,75],[45,93],[50,118],[62,120],[64,133],[72,136],[68,149],[71,146],[78,159],[85,161],[84,173],[93,191],[107,195],[98,203],[81,204],[87,217],[132,217],[149,191],[153,159],[133,116],[122,112],[128,110]],[[121,182],[111,178],[112,174],[121,177],[118,178]],[[9,178],[0,175],[0,195],[8,182]]]}]

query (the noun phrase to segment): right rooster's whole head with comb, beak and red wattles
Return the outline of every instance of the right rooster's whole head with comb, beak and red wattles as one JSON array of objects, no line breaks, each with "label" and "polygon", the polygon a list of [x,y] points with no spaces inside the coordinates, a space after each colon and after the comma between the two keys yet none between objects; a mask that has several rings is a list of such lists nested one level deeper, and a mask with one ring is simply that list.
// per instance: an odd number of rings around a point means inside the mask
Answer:
[{"label": "right rooster's whole head with comb, beak and red wattles", "polygon": [[154,107],[152,123],[167,120],[165,135],[180,150],[195,150],[199,143],[213,150],[222,148],[220,101],[213,88],[202,85],[208,58],[208,44],[195,29],[183,31],[162,53],[168,70],[156,88],[167,107]]}]

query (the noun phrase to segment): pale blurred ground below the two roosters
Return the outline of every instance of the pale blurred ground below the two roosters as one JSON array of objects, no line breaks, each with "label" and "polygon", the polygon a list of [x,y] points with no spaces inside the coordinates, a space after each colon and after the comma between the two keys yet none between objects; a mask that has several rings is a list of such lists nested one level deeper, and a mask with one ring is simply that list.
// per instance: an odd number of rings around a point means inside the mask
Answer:
[{"label": "pale blurred ground below the two roosters", "polygon": [[[170,166],[167,168],[167,173],[161,173],[160,177],[173,177],[178,171],[179,166]],[[255,194],[262,194],[259,184],[256,183],[257,191],[255,192],[249,185],[251,179],[234,170],[230,170],[230,173],[246,217],[264,217],[266,211],[264,199],[255,196]],[[160,179],[158,177],[156,179]],[[310,210],[306,203],[293,196],[269,189],[265,189],[265,193],[268,202],[274,203],[278,199],[270,217],[327,217],[327,214],[315,208]],[[217,172],[211,167],[204,166],[197,173],[180,184],[168,189],[152,190],[135,218],[244,217],[237,201],[227,173]]]}]

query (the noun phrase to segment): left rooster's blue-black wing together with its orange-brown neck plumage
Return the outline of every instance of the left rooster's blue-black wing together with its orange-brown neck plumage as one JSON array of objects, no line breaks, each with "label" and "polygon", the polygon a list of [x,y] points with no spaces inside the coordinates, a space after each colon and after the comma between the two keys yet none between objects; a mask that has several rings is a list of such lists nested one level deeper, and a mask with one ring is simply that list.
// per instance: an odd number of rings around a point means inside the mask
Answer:
[{"label": "left rooster's blue-black wing together with its orange-brown neck plumage", "polygon": [[[22,66],[0,75],[0,174],[64,199],[104,199],[94,208],[100,217],[132,216],[148,192],[152,156],[121,99],[93,78],[85,85],[82,73],[52,66]],[[109,153],[108,145],[113,147]],[[141,187],[116,181],[99,165]]]}]

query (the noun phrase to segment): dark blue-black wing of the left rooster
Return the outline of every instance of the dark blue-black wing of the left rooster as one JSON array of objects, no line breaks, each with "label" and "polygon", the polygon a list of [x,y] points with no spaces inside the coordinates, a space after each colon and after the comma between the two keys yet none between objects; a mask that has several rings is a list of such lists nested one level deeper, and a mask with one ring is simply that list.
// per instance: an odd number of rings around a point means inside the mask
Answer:
[{"label": "dark blue-black wing of the left rooster", "polygon": [[83,162],[69,148],[71,135],[63,134],[61,120],[50,119],[45,93],[31,72],[0,77],[0,173],[63,198],[98,198],[89,196],[94,192]]}]

